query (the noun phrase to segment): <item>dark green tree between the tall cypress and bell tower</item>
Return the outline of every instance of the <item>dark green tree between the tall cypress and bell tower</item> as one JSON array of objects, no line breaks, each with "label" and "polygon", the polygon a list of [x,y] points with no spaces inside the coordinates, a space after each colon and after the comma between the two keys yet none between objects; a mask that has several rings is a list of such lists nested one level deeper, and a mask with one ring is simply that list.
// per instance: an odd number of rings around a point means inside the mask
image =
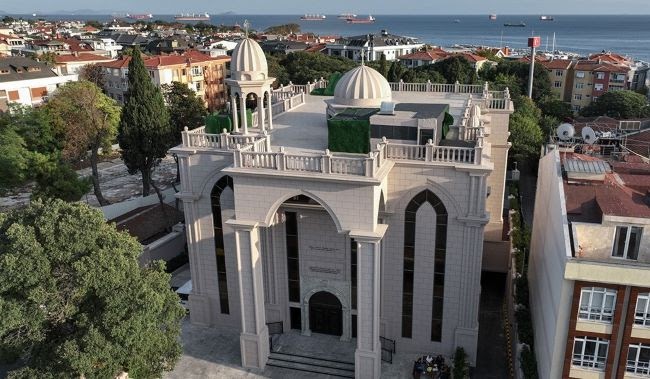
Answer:
[{"label": "dark green tree between the tall cypress and bell tower", "polygon": [[181,142],[181,132],[186,126],[190,129],[197,128],[205,123],[207,109],[203,100],[196,96],[187,84],[172,82],[163,84],[163,97],[169,112],[169,123],[172,126],[173,140],[172,147]]}]

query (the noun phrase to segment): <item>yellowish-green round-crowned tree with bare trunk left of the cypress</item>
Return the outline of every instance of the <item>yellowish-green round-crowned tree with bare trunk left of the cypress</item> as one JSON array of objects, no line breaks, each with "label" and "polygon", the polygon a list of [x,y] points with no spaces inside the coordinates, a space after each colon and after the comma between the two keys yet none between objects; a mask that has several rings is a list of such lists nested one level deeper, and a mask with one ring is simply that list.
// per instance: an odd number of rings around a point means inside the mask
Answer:
[{"label": "yellowish-green round-crowned tree with bare trunk left of the cypress", "polygon": [[75,161],[86,158],[92,169],[92,184],[100,205],[110,204],[99,185],[99,149],[110,151],[117,135],[120,108],[95,84],[82,80],[59,88],[47,103],[53,122],[63,130],[64,156]]}]

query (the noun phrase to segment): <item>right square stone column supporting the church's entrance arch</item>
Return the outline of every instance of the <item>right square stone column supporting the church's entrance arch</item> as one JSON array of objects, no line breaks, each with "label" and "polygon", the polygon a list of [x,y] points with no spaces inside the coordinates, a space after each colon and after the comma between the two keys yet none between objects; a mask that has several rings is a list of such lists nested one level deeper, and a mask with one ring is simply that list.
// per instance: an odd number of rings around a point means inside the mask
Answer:
[{"label": "right square stone column supporting the church's entrance arch", "polygon": [[357,242],[357,349],[354,353],[355,378],[381,376],[379,342],[380,241],[386,225],[376,232],[350,232]]}]

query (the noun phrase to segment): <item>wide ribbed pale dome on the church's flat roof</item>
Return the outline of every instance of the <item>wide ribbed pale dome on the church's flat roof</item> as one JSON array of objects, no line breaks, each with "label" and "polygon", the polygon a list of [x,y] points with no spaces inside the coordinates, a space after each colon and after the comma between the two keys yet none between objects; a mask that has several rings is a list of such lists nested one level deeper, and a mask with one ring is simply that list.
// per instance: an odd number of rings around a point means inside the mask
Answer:
[{"label": "wide ribbed pale dome on the church's flat roof", "polygon": [[391,101],[391,98],[386,78],[364,65],[346,72],[334,89],[334,102],[340,105],[379,108],[382,101]]}]

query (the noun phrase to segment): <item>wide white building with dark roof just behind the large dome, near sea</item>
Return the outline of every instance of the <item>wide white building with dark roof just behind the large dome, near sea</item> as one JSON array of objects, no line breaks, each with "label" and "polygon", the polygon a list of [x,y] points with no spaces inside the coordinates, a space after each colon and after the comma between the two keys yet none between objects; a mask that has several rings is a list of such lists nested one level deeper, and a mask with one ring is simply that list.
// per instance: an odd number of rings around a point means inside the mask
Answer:
[{"label": "wide white building with dark roof just behind the large dome, near sea", "polygon": [[379,60],[381,54],[386,60],[394,61],[397,57],[420,50],[424,46],[417,38],[390,34],[386,30],[381,33],[364,34],[344,37],[334,43],[327,44],[327,55],[346,57],[361,62],[361,52],[367,61]]}]

